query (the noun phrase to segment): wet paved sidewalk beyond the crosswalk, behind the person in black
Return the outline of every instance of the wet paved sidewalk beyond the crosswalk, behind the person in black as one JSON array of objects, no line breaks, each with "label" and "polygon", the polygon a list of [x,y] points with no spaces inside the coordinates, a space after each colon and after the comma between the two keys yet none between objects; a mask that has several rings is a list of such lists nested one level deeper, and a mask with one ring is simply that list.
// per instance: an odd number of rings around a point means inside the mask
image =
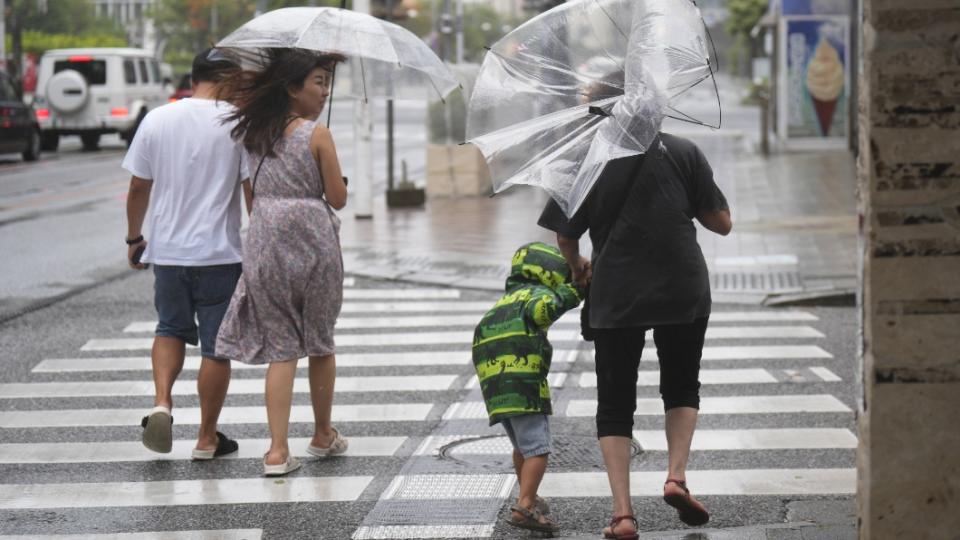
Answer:
[{"label": "wet paved sidewalk beyond the crosswalk, behind the person in black", "polygon": [[[749,133],[685,128],[706,154],[730,202],[733,232],[700,230],[717,300],[853,290],[856,285],[855,165],[847,152],[765,159]],[[514,250],[554,242],[536,225],[547,195],[514,187],[496,197],[434,198],[424,209],[387,209],[372,220],[344,215],[348,273],[499,290]],[[586,241],[581,247],[589,252]]]}]

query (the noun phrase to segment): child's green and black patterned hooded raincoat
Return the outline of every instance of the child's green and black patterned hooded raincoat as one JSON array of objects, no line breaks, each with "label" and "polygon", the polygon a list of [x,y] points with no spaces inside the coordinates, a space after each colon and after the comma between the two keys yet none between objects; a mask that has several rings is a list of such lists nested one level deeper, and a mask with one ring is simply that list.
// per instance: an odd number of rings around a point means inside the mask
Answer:
[{"label": "child's green and black patterned hooded raincoat", "polygon": [[490,424],[522,414],[552,414],[547,374],[553,348],[547,329],[580,304],[560,251],[541,242],[513,256],[507,293],[473,334],[473,366]]}]

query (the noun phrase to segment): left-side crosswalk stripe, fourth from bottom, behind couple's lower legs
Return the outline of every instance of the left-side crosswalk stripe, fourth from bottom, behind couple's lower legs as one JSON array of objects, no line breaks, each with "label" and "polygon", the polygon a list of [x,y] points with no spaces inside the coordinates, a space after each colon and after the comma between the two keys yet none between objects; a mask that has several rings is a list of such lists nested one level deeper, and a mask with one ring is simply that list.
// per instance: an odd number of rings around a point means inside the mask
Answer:
[{"label": "left-side crosswalk stripe, fourth from bottom, behind couple's lower legs", "polygon": [[[384,403],[361,405],[334,405],[335,422],[406,422],[423,421],[430,414],[433,403]],[[0,411],[0,427],[46,428],[79,426],[139,426],[143,410],[133,409],[63,409],[38,411]],[[173,410],[177,425],[199,425],[199,408]],[[290,421],[313,423],[313,407],[294,405]],[[219,423],[266,424],[267,411],[263,406],[224,407]]]}]

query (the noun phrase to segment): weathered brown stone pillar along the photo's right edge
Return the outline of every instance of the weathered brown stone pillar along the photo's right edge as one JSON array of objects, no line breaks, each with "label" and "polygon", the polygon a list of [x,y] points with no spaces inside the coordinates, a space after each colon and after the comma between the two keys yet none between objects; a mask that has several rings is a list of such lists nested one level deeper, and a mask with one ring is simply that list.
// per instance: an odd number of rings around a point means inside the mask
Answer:
[{"label": "weathered brown stone pillar along the photo's right edge", "polygon": [[863,0],[860,537],[960,538],[960,0]]}]

